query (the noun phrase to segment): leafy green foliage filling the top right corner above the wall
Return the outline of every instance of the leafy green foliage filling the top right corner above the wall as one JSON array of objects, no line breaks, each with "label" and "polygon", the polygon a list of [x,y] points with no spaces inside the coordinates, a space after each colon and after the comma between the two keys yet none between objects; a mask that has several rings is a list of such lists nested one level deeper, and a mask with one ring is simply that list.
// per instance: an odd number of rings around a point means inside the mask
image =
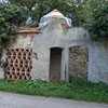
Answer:
[{"label": "leafy green foliage filling the top right corner above the wall", "polygon": [[90,0],[83,4],[80,11],[84,21],[83,25],[87,28],[91,39],[106,38],[108,33],[108,1],[107,0]]}]

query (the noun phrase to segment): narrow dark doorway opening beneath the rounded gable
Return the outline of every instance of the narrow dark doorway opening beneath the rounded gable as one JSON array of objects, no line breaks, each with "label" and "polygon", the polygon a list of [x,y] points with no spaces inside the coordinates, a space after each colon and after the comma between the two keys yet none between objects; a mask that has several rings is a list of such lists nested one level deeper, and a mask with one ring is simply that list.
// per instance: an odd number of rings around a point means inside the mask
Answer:
[{"label": "narrow dark doorway opening beneath the rounded gable", "polygon": [[62,49],[53,48],[50,50],[50,82],[60,81],[60,68],[62,68]]}]

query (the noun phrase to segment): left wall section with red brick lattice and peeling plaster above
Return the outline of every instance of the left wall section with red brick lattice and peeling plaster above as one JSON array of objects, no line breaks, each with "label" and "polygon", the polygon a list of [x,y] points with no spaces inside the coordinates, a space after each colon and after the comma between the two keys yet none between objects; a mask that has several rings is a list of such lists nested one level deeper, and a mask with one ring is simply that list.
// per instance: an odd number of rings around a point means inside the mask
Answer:
[{"label": "left wall section with red brick lattice and peeling plaster above", "polygon": [[8,59],[9,64],[6,70],[0,67],[0,78],[31,79],[35,33],[17,33],[14,37],[15,40],[3,50],[1,63]]}]

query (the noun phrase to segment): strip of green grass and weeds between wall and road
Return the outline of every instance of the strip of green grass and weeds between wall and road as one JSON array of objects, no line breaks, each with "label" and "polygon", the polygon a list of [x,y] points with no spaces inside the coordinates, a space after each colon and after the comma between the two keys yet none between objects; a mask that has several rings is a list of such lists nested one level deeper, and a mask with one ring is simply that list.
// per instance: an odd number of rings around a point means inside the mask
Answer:
[{"label": "strip of green grass and weeds between wall and road", "polygon": [[93,84],[86,78],[71,77],[69,83],[41,80],[0,80],[0,91],[108,104],[108,85]]}]

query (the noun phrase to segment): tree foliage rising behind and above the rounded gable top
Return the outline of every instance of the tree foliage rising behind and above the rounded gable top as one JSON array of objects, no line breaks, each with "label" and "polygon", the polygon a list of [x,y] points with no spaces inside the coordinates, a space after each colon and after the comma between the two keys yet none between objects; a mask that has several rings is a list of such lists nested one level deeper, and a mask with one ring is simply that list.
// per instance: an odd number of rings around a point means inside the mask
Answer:
[{"label": "tree foliage rising behind and above the rounded gable top", "polygon": [[[72,19],[73,26],[81,26],[83,19],[81,10],[83,10],[82,3],[79,3],[79,6],[75,4],[75,0],[10,0],[11,3],[17,5],[25,5],[29,9],[29,15],[32,18],[31,26],[38,26],[40,18],[51,12],[54,9],[57,9],[65,16]],[[35,10],[32,10],[32,5]]]}]

